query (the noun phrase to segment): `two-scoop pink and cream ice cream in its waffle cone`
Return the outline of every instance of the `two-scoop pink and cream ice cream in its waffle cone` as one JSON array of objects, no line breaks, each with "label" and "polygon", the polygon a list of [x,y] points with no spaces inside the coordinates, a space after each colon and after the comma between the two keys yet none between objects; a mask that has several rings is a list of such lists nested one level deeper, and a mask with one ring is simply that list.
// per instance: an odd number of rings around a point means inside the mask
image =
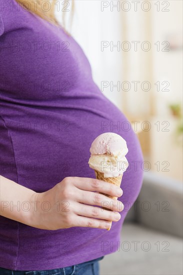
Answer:
[{"label": "two-scoop pink and cream ice cream in its waffle cone", "polygon": [[[96,178],[120,187],[123,172],[128,167],[125,157],[128,148],[124,138],[112,132],[102,133],[93,140],[89,151],[91,155],[88,164],[94,169]],[[110,230],[110,227],[107,230]]]}]

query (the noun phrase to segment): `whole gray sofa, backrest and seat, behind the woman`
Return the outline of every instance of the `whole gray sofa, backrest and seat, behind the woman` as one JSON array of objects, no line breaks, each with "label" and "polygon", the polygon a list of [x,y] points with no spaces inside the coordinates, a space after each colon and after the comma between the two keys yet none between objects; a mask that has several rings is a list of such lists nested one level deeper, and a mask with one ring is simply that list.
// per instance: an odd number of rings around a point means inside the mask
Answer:
[{"label": "whole gray sofa, backrest and seat, behind the woman", "polygon": [[100,274],[182,275],[181,237],[182,182],[144,172],[141,191],[121,231],[120,244],[127,242],[130,249],[120,247],[106,255]]}]

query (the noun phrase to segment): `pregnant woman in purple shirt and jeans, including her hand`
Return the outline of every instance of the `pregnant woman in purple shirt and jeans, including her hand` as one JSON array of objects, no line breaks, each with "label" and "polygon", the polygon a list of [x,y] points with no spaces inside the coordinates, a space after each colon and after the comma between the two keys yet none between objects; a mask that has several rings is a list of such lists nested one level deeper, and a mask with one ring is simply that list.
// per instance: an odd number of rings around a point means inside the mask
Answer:
[{"label": "pregnant woman in purple shirt and jeans, including her hand", "polygon": [[[93,82],[81,47],[49,18],[34,5],[0,3],[0,275],[98,274],[142,182],[135,133],[114,126],[127,119]],[[88,165],[103,132],[127,143],[123,194]],[[111,211],[99,210],[103,200]]]}]

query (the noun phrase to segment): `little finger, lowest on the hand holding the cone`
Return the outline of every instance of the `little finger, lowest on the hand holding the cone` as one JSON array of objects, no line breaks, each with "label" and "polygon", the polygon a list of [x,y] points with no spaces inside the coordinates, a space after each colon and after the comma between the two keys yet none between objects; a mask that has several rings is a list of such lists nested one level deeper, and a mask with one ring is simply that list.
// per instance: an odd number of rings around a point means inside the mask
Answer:
[{"label": "little finger, lowest on the hand holding the cone", "polygon": [[111,226],[111,221],[74,215],[71,226],[107,229]]}]

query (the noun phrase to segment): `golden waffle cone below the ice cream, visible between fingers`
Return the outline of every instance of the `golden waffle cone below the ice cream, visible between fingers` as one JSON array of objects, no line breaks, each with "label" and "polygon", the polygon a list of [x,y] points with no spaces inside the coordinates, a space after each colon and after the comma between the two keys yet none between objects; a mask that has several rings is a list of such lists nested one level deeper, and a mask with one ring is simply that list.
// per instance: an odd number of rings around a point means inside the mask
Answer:
[{"label": "golden waffle cone below the ice cream, visible between fingers", "polygon": [[[120,187],[120,183],[121,183],[121,179],[122,179],[122,175],[120,176],[116,176],[116,177],[104,177],[103,173],[102,172],[98,172],[96,170],[94,170],[95,172],[95,176],[96,176],[96,179],[100,179],[100,180],[103,180],[103,181],[106,181],[106,182],[109,182],[111,184],[114,184],[118,187]],[[104,194],[110,198],[113,198],[113,199],[117,199],[116,196],[110,196],[108,194],[105,194],[105,193],[100,193],[100,194]],[[105,207],[102,207],[103,209],[105,210],[109,210],[108,208],[105,208]],[[109,210],[110,211],[110,210]],[[112,225],[112,222],[111,222],[111,225]],[[111,227],[110,225],[110,227]],[[110,230],[110,227],[107,229],[107,230]]]}]

